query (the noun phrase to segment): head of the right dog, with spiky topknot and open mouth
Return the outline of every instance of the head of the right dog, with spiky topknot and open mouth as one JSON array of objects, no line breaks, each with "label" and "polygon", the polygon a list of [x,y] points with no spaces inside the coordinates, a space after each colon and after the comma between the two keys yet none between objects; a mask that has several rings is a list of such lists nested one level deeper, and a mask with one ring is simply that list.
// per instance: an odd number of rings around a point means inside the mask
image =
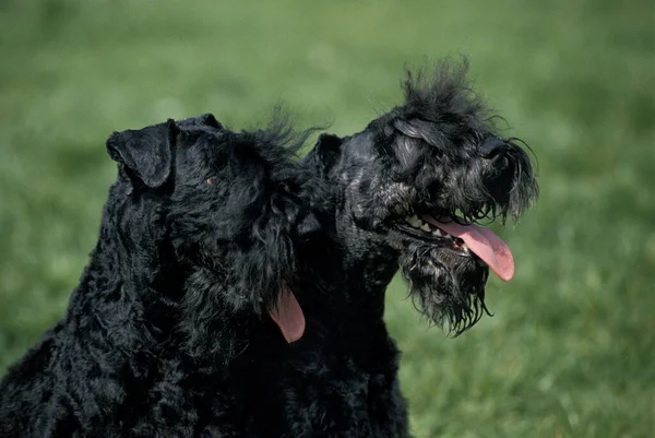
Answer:
[{"label": "head of the right dog, with spiky topknot and open mouth", "polygon": [[522,142],[496,133],[465,67],[409,75],[405,97],[362,132],[323,135],[308,159],[340,191],[346,245],[393,251],[418,307],[461,332],[486,310],[489,268],[514,273],[507,245],[475,222],[517,218],[538,188]]}]

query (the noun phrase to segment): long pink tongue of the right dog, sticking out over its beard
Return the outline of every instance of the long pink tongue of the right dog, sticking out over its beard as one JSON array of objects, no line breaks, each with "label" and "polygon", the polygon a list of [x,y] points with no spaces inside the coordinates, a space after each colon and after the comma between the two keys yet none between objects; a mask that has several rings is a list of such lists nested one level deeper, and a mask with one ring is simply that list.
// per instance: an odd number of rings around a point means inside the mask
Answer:
[{"label": "long pink tongue of the right dog, sticking out over its beard", "polygon": [[464,240],[468,249],[479,257],[496,272],[496,275],[505,282],[514,276],[514,258],[512,251],[500,237],[490,229],[479,225],[460,225],[456,222],[439,222],[431,216],[422,220],[438,226],[451,236]]}]

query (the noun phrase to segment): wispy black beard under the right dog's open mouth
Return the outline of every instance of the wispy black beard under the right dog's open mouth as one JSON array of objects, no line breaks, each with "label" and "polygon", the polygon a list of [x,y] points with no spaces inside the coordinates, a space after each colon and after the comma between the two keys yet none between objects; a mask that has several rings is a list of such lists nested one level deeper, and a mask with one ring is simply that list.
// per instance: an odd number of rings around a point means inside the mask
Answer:
[{"label": "wispy black beard under the right dog's open mouth", "polygon": [[[401,260],[403,275],[409,283],[409,296],[417,311],[430,324],[440,327],[450,335],[458,336],[475,325],[487,313],[485,284],[489,275],[487,268],[479,268],[481,277],[478,284],[467,284],[465,279],[472,273],[469,262],[448,269],[431,261],[419,262],[420,249],[406,260]],[[475,263],[475,262],[473,262]]]}]

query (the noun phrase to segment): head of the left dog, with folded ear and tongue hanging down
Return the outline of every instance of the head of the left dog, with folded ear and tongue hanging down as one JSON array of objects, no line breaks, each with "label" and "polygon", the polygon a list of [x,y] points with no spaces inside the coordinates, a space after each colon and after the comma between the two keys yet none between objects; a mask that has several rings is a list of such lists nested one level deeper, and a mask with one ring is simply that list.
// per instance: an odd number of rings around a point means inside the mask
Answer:
[{"label": "head of the left dog, with folded ear and tongue hanging down", "polygon": [[[205,115],[107,141],[129,187],[126,210],[136,212],[132,234],[156,229],[156,250],[167,258],[158,264],[183,279],[181,307],[193,313],[187,319],[212,323],[218,312],[270,311],[287,340],[301,334],[302,316],[288,293],[299,184],[287,132],[233,132]],[[148,221],[152,211],[157,217]]]}]

